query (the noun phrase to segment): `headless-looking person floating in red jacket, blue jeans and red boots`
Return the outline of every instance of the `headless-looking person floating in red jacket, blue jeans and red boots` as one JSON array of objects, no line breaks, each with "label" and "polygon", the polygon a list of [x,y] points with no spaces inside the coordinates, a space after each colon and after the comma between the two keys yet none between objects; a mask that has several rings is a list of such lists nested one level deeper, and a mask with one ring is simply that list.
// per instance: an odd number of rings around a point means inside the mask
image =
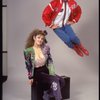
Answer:
[{"label": "headless-looking person floating in red jacket, blue jeans and red boots", "polygon": [[57,36],[79,56],[89,55],[71,25],[81,17],[81,7],[75,0],[52,0],[44,9],[42,19]]}]

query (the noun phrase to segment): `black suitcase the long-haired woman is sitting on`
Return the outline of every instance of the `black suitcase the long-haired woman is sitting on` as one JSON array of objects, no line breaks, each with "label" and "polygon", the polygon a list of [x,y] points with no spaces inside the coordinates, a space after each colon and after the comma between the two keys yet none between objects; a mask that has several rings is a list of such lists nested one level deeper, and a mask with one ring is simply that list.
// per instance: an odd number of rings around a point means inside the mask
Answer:
[{"label": "black suitcase the long-haired woman is sitting on", "polygon": [[[61,76],[65,80],[65,86],[61,89],[63,99],[70,98],[70,77]],[[43,89],[38,84],[33,84],[31,87],[31,100],[43,100]]]}]

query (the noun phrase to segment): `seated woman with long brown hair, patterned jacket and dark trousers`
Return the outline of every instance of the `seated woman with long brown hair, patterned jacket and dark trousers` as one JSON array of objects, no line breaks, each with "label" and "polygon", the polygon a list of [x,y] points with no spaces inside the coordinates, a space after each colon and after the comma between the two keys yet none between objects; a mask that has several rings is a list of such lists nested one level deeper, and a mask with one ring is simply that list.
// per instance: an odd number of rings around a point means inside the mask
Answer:
[{"label": "seated woman with long brown hair, patterned jacket and dark trousers", "polygon": [[[32,85],[34,80],[44,86],[43,100],[61,100],[61,87],[64,80],[55,74],[50,48],[45,39],[46,31],[39,29],[33,30],[26,42],[24,56],[26,68],[28,70],[29,83]],[[49,97],[47,97],[49,93]]]}]

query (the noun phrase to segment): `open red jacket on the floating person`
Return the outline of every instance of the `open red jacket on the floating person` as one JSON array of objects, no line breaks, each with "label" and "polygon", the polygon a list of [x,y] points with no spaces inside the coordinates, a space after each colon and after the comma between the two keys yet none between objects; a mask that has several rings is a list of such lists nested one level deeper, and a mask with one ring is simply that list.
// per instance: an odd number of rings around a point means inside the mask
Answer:
[{"label": "open red jacket on the floating person", "polygon": [[[78,22],[81,16],[81,8],[74,0],[68,0],[69,8],[71,9],[71,15],[69,21]],[[44,9],[42,19],[46,26],[50,26],[57,14],[62,8],[62,0],[52,0]]]}]

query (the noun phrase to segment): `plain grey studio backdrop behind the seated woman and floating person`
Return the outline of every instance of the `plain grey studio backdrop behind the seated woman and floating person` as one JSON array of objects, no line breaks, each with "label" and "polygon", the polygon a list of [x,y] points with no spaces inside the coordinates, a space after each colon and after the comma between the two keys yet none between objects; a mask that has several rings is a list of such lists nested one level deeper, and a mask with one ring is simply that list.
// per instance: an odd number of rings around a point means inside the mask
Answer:
[{"label": "plain grey studio backdrop behind the seated woman and floating person", "polygon": [[41,20],[44,7],[51,0],[7,0],[7,75],[3,84],[3,100],[31,100],[23,49],[34,28],[46,29],[47,40],[56,73],[71,78],[69,100],[98,100],[98,26],[99,0],[76,0],[82,17],[72,27],[90,51],[89,57],[79,57],[69,49]]}]

